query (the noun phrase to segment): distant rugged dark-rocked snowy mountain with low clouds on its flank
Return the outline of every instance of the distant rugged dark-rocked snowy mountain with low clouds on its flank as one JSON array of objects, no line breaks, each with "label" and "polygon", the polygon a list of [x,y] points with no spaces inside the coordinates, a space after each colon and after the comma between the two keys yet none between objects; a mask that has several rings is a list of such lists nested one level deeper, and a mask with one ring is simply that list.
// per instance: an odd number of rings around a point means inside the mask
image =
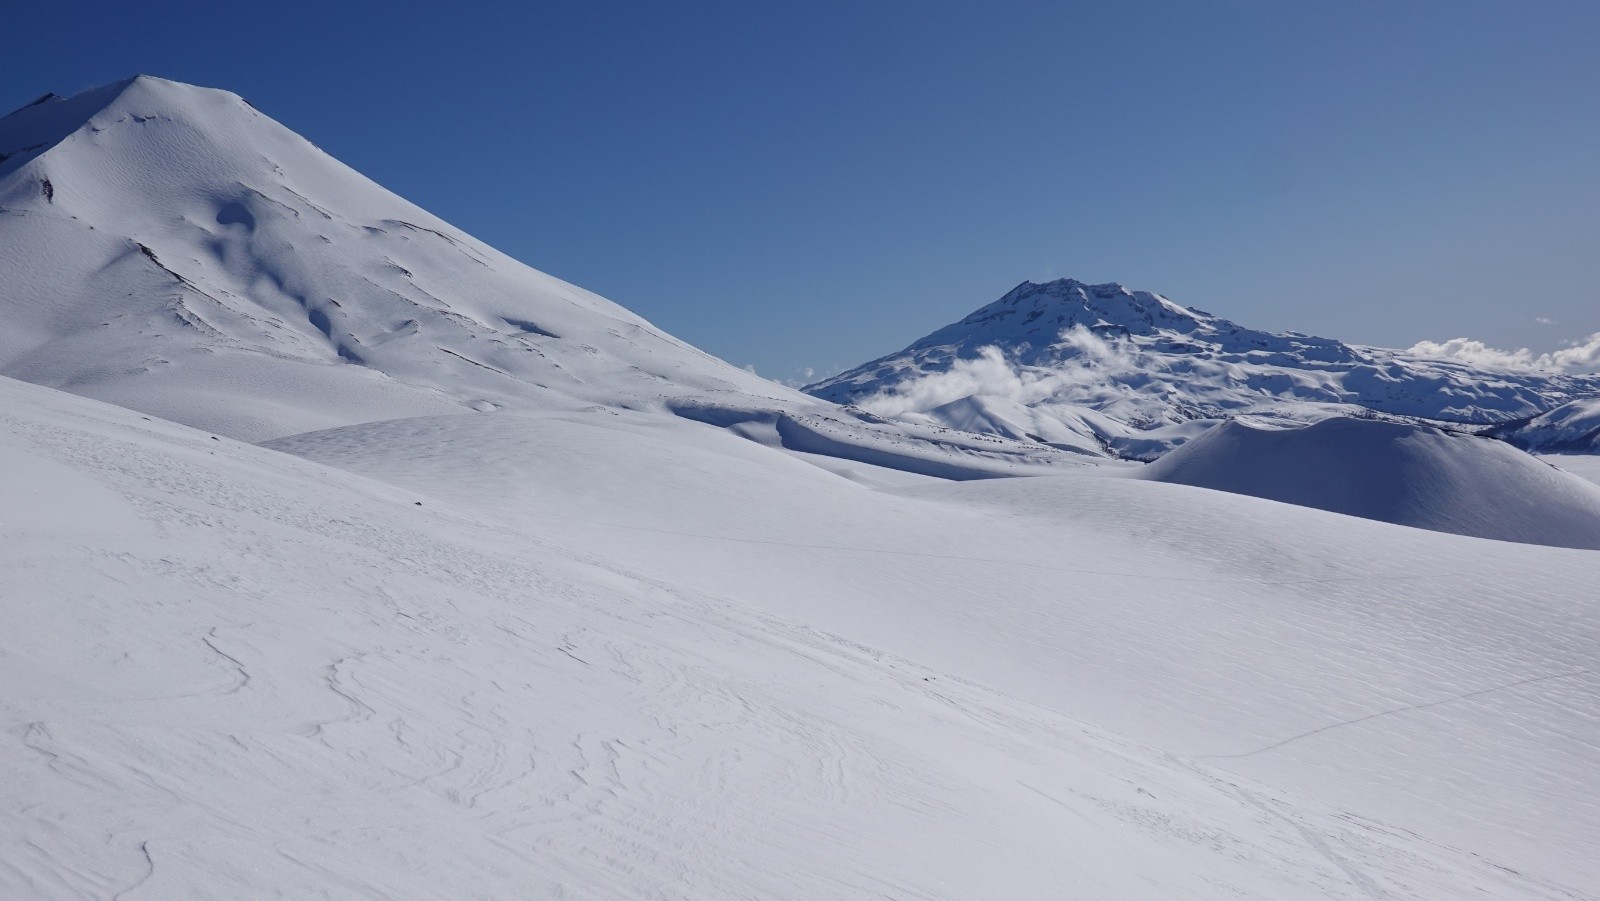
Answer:
[{"label": "distant rugged dark-rocked snowy mountain with low clouds on its flank", "polygon": [[1522,419],[1600,395],[1600,376],[1256,331],[1160,294],[1064,278],[1024,282],[898,354],[805,390],[882,414],[1149,459],[1240,414]]}]

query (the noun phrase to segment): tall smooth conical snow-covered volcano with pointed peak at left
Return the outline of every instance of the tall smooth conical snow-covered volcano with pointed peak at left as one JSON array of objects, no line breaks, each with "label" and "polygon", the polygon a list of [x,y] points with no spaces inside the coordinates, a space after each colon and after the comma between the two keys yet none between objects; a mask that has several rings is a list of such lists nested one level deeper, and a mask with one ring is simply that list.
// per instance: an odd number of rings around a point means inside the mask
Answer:
[{"label": "tall smooth conical snow-covered volcano with pointed peak at left", "polygon": [[242,98],[162,78],[0,120],[0,374],[238,438],[490,406],[808,403]]}]

